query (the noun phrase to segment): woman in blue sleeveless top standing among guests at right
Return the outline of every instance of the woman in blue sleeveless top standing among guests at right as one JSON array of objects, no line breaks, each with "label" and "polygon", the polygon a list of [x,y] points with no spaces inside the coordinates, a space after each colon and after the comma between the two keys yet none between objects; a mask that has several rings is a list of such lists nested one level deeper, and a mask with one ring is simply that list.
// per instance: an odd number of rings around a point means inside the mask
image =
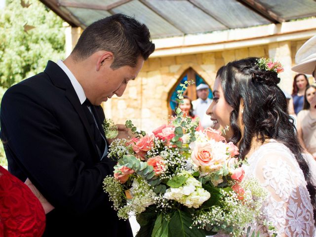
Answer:
[{"label": "woman in blue sleeveless top standing among guests at right", "polygon": [[303,109],[304,92],[306,86],[308,86],[309,84],[310,83],[308,82],[308,79],[305,74],[300,73],[294,77],[292,97],[294,112],[296,115]]}]

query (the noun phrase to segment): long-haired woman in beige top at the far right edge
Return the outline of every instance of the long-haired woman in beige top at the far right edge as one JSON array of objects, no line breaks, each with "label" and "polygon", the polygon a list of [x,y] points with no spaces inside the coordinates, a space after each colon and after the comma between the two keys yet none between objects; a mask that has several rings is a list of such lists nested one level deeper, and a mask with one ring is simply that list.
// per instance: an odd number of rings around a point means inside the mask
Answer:
[{"label": "long-haired woman in beige top at the far right edge", "polygon": [[297,131],[302,147],[316,159],[316,86],[305,90],[304,107],[297,115]]}]

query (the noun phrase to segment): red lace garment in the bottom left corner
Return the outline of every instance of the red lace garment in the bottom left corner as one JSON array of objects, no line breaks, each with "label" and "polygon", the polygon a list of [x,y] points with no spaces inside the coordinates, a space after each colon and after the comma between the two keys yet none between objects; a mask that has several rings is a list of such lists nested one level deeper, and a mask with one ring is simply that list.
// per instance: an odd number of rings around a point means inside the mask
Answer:
[{"label": "red lace garment in the bottom left corner", "polygon": [[45,213],[39,199],[0,166],[0,237],[41,237]]}]

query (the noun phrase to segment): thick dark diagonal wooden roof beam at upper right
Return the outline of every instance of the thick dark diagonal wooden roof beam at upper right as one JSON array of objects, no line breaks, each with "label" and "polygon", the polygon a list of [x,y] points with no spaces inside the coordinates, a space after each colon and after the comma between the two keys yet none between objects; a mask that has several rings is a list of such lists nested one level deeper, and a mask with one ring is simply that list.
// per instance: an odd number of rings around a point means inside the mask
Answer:
[{"label": "thick dark diagonal wooden roof beam at upper right", "polygon": [[283,18],[278,17],[276,13],[267,9],[265,6],[263,6],[259,2],[256,2],[255,0],[237,0],[237,1],[274,24],[279,24],[285,21]]}]

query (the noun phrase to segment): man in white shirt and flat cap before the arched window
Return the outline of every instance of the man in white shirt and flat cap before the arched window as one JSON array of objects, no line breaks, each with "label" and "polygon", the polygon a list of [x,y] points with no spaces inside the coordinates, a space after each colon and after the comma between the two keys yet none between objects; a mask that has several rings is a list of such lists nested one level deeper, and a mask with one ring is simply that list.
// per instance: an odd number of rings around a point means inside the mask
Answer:
[{"label": "man in white shirt and flat cap before the arched window", "polygon": [[206,110],[212,103],[212,100],[208,98],[209,86],[206,84],[199,84],[197,86],[197,100],[192,101],[193,113],[200,119],[202,127],[213,127],[214,122],[209,115],[206,115]]}]

